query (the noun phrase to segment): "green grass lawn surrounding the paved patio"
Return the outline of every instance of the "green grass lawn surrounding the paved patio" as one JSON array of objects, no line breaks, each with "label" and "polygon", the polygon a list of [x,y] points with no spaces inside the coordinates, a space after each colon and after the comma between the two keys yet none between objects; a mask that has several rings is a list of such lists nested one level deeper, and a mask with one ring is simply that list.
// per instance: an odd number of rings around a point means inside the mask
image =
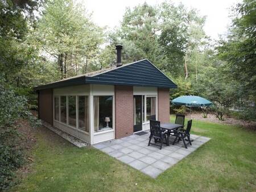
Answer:
[{"label": "green grass lawn surrounding the paved patio", "polygon": [[192,132],[212,139],[154,180],[97,149],[76,148],[42,128],[36,132],[32,172],[11,190],[256,191],[254,131],[194,120]]}]

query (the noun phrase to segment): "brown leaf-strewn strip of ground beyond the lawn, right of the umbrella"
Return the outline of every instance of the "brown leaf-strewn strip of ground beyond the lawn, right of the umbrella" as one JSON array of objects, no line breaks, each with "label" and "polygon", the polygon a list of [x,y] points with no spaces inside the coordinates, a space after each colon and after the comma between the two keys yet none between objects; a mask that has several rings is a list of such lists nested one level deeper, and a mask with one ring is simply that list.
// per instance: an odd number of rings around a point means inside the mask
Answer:
[{"label": "brown leaf-strewn strip of ground beyond the lawn, right of the umbrella", "polygon": [[207,118],[203,118],[203,113],[194,112],[191,114],[191,119],[201,120],[203,122],[213,122],[213,123],[224,123],[224,124],[232,124],[239,125],[246,128],[256,129],[256,122],[249,122],[241,119],[234,119],[228,116],[224,116],[224,120],[218,120],[214,114],[208,114]]}]

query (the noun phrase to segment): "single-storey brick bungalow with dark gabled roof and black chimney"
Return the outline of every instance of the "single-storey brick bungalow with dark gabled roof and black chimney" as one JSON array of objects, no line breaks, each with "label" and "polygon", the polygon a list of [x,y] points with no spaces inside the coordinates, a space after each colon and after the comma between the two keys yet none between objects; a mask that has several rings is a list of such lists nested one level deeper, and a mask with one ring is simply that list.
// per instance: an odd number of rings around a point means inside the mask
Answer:
[{"label": "single-storey brick bungalow with dark gabled roof and black chimney", "polygon": [[149,129],[149,120],[169,122],[166,75],[147,59],[35,87],[39,118],[90,144]]}]

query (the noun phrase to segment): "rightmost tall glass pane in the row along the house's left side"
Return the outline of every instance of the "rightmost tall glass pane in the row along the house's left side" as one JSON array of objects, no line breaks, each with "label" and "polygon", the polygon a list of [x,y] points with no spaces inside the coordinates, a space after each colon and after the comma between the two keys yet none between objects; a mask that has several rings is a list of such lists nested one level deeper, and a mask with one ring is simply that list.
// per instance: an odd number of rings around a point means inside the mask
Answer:
[{"label": "rightmost tall glass pane in the row along the house's left side", "polygon": [[79,96],[79,128],[89,132],[88,96]]}]

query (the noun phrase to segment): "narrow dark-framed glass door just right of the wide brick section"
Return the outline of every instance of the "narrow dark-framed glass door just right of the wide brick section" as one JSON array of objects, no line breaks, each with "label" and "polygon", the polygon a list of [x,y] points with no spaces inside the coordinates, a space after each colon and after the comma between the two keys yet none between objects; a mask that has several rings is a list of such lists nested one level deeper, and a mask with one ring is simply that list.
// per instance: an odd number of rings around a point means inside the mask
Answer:
[{"label": "narrow dark-framed glass door just right of the wide brick section", "polygon": [[142,119],[143,119],[143,114],[142,114],[142,95],[134,95],[133,96],[133,132],[141,131],[142,130]]}]

